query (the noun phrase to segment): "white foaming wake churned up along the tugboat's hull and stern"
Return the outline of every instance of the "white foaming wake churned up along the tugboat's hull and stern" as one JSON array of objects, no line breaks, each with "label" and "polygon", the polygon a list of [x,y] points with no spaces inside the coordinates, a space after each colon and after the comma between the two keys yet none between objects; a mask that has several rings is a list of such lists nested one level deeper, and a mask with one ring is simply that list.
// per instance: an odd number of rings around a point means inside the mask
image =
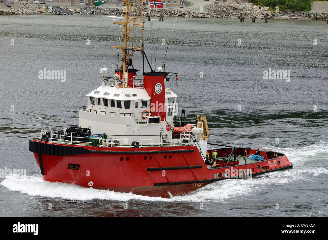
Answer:
[{"label": "white foaming wake churned up along the tugboat's hull and stern", "polygon": [[[296,163],[291,170],[282,170],[270,172],[256,176],[252,179],[227,179],[208,184],[194,192],[184,196],[175,196],[172,198],[148,197],[132,193],[119,193],[108,190],[97,190],[84,188],[73,184],[47,182],[43,181],[40,175],[32,175],[27,178],[7,178],[1,182],[1,185],[12,191],[19,191],[31,196],[44,196],[51,198],[63,198],[70,200],[91,200],[105,199],[114,201],[129,201],[131,199],[142,201],[192,201],[192,202],[222,202],[233,200],[240,196],[252,195],[263,189],[272,189],[275,186],[282,186],[298,181],[316,181],[313,174],[318,172],[328,174],[327,168],[312,167],[308,168],[309,161],[315,161],[317,158],[326,157],[328,147],[310,146],[300,149],[279,149],[272,148],[287,155],[288,159]],[[304,168],[305,165],[306,168]]]}]

